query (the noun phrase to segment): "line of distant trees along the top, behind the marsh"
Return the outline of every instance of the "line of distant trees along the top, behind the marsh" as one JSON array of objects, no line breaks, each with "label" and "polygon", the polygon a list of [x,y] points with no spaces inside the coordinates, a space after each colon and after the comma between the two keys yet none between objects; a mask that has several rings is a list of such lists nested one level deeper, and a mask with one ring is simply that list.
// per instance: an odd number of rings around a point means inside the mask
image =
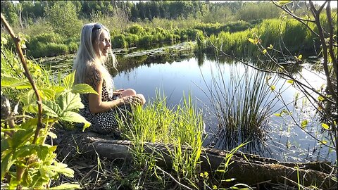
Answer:
[{"label": "line of distant trees along the top, behind the marsh", "polygon": [[[75,8],[77,18],[90,19],[100,14],[108,17],[120,16],[128,21],[153,20],[154,18],[177,19],[199,18],[205,23],[223,23],[234,20],[276,18],[280,10],[266,2],[230,1],[210,3],[208,1],[69,1]],[[1,1],[1,13],[11,25],[20,20],[32,23],[44,18],[60,1]]]}]

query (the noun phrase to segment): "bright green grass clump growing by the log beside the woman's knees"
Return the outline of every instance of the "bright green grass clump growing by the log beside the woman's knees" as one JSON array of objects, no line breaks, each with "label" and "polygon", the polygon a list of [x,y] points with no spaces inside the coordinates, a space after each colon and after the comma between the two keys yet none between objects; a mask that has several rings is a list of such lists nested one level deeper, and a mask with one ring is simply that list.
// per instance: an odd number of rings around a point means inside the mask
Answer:
[{"label": "bright green grass clump growing by the log beside the woman's knees", "polygon": [[119,120],[123,135],[134,144],[134,164],[142,168],[147,165],[148,170],[156,172],[155,160],[161,158],[147,155],[144,143],[162,142],[170,154],[175,177],[180,182],[191,184],[198,177],[203,125],[202,115],[196,110],[190,95],[187,99],[183,97],[182,104],[168,108],[166,97],[158,92],[145,108],[134,107],[130,121]]}]

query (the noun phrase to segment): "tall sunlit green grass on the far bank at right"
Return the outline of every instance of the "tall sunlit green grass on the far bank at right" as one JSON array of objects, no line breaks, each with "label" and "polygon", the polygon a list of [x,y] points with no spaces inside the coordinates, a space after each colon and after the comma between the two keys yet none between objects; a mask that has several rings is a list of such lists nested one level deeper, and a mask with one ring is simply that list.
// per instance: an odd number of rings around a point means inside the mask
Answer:
[{"label": "tall sunlit green grass on the far bank at right", "polygon": [[[313,29],[315,30],[315,27]],[[208,53],[219,55],[219,52],[211,45],[213,44],[223,52],[234,54],[234,56],[257,56],[261,54],[261,51],[248,41],[249,38],[256,38],[253,37],[254,34],[261,39],[264,47],[272,44],[282,52],[288,50],[291,53],[313,51],[313,34],[301,23],[292,19],[268,19],[263,20],[251,30],[211,34],[210,40],[206,42],[205,50]],[[201,44],[199,48],[200,46]],[[319,48],[318,44],[315,48]]]}]

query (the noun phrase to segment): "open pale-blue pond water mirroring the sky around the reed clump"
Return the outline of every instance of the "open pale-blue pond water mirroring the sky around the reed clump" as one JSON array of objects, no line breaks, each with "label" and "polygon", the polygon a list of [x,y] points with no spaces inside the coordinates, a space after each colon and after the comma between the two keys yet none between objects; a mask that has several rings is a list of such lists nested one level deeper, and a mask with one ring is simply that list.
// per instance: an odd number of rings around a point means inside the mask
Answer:
[{"label": "open pale-blue pond water mirroring the sky around the reed clump", "polygon": [[[324,83],[324,80],[320,77],[320,74],[308,70],[307,68],[310,66],[308,63],[303,64],[301,75],[305,76],[317,89]],[[217,143],[212,141],[218,122],[211,113],[211,101],[208,99],[206,89],[211,85],[211,78],[217,78],[215,75],[218,75],[218,70],[222,70],[225,83],[227,83],[229,82],[230,72],[237,70],[236,72],[242,75],[241,72],[244,72],[245,68],[245,65],[241,63],[218,63],[218,61],[208,60],[207,58],[204,58],[203,64],[201,64],[198,58],[192,57],[164,64],[148,63],[128,71],[120,71],[115,75],[114,82],[116,89],[135,89],[138,93],[144,94],[148,101],[154,99],[156,90],[163,91],[167,96],[169,106],[181,103],[183,96],[187,97],[188,94],[191,94],[196,106],[204,112],[206,132],[208,133],[204,146],[220,148],[222,141]],[[252,69],[249,68],[249,70]],[[304,105],[305,108],[294,108],[294,96],[299,91],[294,89],[292,84],[280,80],[275,85],[276,89],[282,92],[284,102],[290,103],[288,107],[296,115],[296,118],[311,120],[315,116],[315,109],[306,105],[303,99],[300,99],[298,103],[302,104],[301,106]],[[280,113],[283,105],[282,102],[275,103],[273,113]],[[318,123],[317,125],[313,124],[312,127],[308,127],[308,131],[318,139],[322,139],[323,137],[319,132],[320,127],[315,127],[318,125]],[[256,151],[251,150],[251,153],[280,161],[305,162],[317,159],[329,159],[330,161],[335,159],[334,153],[329,153],[329,148],[320,146],[313,137],[296,127],[290,118],[283,120],[272,114],[269,118],[269,127],[265,130],[265,141],[258,144],[261,147],[256,148]]]}]

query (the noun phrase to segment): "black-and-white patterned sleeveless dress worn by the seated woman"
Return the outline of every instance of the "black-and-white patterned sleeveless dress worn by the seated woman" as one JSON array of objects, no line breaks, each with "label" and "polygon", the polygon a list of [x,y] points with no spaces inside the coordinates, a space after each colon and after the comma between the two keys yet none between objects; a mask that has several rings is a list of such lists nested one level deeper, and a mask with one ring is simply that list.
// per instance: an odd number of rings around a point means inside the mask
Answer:
[{"label": "black-and-white patterned sleeveless dress worn by the seated woman", "polygon": [[[113,101],[119,99],[120,95],[113,95],[113,90],[107,90],[106,82],[102,84],[102,101]],[[129,104],[112,108],[106,112],[91,113],[89,110],[88,94],[82,94],[81,101],[84,108],[80,109],[79,114],[86,118],[92,125],[89,130],[100,134],[113,134],[115,137],[120,137],[117,118],[123,119],[128,117],[131,112]]]}]

